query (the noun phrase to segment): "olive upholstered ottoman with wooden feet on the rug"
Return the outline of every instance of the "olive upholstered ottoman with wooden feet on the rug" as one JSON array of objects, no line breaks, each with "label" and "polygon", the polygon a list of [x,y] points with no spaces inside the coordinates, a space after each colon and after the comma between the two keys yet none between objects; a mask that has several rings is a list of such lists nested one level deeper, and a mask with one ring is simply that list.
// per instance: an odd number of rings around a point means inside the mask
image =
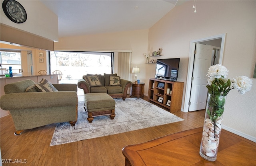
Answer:
[{"label": "olive upholstered ottoman with wooden feet on the rug", "polygon": [[114,119],[116,102],[106,93],[84,94],[84,109],[88,113],[87,120],[92,123],[93,117],[110,115]]}]

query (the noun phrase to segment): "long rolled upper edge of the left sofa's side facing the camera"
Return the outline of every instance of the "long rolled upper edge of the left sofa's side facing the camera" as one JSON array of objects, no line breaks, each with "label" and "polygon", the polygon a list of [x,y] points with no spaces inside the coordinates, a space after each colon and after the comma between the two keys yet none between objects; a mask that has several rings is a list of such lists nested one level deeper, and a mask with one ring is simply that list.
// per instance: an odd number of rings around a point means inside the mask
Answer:
[{"label": "long rolled upper edge of the left sofa's side facing the camera", "polygon": [[77,92],[24,92],[1,96],[0,107],[4,110],[34,109],[77,105]]}]

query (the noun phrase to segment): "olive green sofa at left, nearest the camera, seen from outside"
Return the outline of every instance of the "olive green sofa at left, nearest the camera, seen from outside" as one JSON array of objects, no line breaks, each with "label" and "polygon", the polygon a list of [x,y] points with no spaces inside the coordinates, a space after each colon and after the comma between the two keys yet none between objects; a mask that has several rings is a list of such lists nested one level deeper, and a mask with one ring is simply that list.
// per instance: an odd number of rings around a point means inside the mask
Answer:
[{"label": "olive green sofa at left, nearest the camera, seen from outside", "polygon": [[22,80],[4,86],[0,107],[12,115],[15,135],[25,129],[32,129],[51,123],[67,122],[71,126],[77,120],[77,85],[52,84],[58,92],[25,92],[35,84],[32,80]]}]

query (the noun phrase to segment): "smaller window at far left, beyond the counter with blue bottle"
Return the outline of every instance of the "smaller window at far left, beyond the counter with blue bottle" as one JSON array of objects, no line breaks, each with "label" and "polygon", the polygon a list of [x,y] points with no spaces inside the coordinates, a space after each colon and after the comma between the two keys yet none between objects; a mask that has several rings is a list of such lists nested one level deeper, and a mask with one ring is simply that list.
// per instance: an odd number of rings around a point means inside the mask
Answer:
[{"label": "smaller window at far left, beyond the counter with blue bottle", "polygon": [[12,73],[18,74],[21,69],[21,55],[20,52],[15,51],[0,51],[0,74],[4,74],[5,70],[12,67]]}]

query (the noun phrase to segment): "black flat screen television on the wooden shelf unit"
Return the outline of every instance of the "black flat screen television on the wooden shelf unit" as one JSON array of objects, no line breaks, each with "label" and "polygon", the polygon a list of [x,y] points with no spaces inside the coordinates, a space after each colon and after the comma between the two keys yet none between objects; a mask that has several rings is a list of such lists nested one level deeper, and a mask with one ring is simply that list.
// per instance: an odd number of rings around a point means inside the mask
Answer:
[{"label": "black flat screen television on the wooden shelf unit", "polygon": [[157,59],[155,78],[163,80],[177,80],[180,58]]}]

